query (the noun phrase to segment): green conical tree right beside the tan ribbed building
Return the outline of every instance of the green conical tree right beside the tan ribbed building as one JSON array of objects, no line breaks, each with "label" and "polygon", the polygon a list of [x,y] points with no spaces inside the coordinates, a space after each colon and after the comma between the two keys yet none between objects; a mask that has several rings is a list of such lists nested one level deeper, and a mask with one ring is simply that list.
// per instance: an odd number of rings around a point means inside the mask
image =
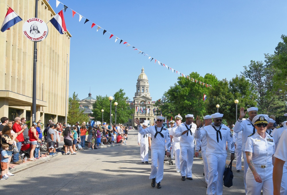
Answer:
[{"label": "green conical tree right beside the tan ribbed building", "polygon": [[72,97],[69,97],[69,112],[67,116],[67,123],[70,125],[75,124],[77,121],[80,123],[83,121],[89,121],[87,114],[84,114],[84,110],[80,111],[80,104],[78,94],[73,93]]}]

